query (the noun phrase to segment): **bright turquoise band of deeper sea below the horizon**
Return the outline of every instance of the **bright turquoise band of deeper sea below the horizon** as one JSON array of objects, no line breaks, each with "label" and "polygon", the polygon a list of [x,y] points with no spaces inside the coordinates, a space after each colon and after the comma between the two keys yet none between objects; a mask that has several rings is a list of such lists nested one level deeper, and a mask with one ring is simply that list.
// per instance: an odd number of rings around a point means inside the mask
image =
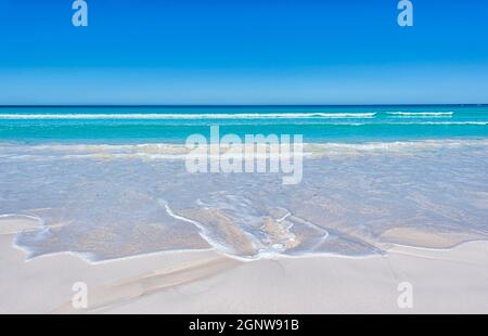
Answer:
[{"label": "bright turquoise band of deeper sea below the horizon", "polygon": [[488,106],[1,107],[0,141],[183,143],[193,133],[306,142],[488,138]]}]

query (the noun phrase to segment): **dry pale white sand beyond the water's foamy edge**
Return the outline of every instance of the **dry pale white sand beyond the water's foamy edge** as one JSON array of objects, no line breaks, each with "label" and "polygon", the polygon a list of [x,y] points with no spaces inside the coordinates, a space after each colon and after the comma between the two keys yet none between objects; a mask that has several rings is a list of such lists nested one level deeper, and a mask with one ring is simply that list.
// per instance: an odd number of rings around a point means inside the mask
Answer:
[{"label": "dry pale white sand beyond the water's foamy edge", "polygon": [[[305,257],[242,262],[215,251],[180,251],[90,264],[57,254],[25,260],[0,231],[1,313],[471,313],[488,312],[488,242],[449,250],[394,246],[385,257]],[[72,306],[88,286],[88,309]],[[397,305],[413,286],[413,308]]]}]

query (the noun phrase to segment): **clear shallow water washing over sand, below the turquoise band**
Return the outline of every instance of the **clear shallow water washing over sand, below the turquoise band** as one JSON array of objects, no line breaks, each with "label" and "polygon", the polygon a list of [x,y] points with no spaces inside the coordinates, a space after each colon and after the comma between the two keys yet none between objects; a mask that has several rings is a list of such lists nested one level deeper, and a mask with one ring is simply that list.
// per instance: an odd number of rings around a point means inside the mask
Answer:
[{"label": "clear shallow water washing over sand, below the turquoise band", "polygon": [[2,144],[0,215],[42,220],[16,236],[29,257],[93,261],[205,248],[249,260],[377,255],[394,228],[488,237],[486,140],[306,151],[303,181],[283,185],[279,173],[189,173],[168,144]]}]

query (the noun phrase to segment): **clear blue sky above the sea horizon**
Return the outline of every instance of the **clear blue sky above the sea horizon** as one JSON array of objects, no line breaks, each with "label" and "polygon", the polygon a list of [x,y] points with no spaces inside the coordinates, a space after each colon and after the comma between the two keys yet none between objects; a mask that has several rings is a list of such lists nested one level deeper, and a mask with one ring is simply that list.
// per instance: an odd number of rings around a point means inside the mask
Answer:
[{"label": "clear blue sky above the sea horizon", "polygon": [[0,104],[488,103],[488,2],[0,0]]}]

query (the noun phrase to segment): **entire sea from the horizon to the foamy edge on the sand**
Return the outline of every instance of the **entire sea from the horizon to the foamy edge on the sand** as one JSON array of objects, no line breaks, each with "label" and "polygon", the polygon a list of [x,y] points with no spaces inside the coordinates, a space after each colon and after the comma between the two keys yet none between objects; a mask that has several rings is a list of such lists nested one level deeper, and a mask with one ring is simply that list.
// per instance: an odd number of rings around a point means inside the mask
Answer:
[{"label": "entire sea from the horizon to the foamy edge on the sand", "polygon": [[[303,134],[303,180],[191,173],[187,137]],[[1,107],[0,216],[28,258],[381,256],[488,237],[488,106]]]}]

